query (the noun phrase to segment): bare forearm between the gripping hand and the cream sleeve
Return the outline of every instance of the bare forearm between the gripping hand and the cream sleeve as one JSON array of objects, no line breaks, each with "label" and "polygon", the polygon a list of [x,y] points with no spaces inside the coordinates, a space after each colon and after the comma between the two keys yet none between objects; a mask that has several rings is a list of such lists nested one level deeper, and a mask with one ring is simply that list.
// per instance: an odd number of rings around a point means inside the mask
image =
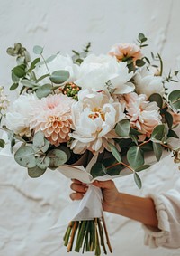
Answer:
[{"label": "bare forearm between the gripping hand and the cream sleeve", "polygon": [[107,207],[106,211],[153,227],[157,227],[158,224],[154,201],[151,198],[120,193],[114,204]]}]

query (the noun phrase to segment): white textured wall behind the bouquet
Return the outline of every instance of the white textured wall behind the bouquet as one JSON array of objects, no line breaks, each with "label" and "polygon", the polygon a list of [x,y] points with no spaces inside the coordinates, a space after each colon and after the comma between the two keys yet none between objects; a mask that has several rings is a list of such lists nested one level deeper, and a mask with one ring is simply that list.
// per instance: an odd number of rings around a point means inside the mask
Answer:
[{"label": "white textured wall behind the bouquet", "polygon": [[[14,60],[5,50],[16,42],[30,52],[34,44],[45,46],[47,56],[81,50],[89,41],[95,53],[105,53],[114,43],[133,42],[139,32],[148,36],[149,51],[162,55],[168,71],[180,58],[179,11],[178,0],[0,0],[0,84],[8,91]],[[160,193],[172,187],[179,175],[167,157],[141,174],[143,189],[137,188],[132,176],[116,183],[127,193]],[[50,230],[70,204],[69,183],[50,171],[31,179],[13,159],[0,158],[0,255],[77,255],[62,246],[64,230]],[[145,247],[139,223],[112,214],[106,218],[114,256],[180,255],[180,250]]]}]

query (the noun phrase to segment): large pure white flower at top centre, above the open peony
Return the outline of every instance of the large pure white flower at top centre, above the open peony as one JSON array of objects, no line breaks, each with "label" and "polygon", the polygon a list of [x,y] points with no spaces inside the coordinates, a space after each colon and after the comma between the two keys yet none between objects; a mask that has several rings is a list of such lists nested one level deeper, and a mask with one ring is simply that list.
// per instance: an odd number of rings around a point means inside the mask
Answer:
[{"label": "large pure white flower at top centre, above the open peony", "polygon": [[115,57],[109,55],[88,55],[80,65],[79,78],[76,85],[98,90],[107,90],[106,83],[111,81],[114,94],[129,93],[134,90],[130,82],[133,72],[129,70],[125,62],[118,62]]}]

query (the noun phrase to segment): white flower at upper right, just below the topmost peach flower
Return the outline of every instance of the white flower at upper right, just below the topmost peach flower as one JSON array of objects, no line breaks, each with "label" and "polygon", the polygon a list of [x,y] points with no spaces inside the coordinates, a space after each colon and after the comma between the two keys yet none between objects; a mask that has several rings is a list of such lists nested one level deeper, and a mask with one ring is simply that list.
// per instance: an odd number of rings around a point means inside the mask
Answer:
[{"label": "white flower at upper right, just below the topmost peach flower", "polygon": [[163,79],[155,76],[153,71],[148,71],[146,67],[139,69],[134,77],[136,92],[146,94],[148,97],[153,93],[164,95]]}]

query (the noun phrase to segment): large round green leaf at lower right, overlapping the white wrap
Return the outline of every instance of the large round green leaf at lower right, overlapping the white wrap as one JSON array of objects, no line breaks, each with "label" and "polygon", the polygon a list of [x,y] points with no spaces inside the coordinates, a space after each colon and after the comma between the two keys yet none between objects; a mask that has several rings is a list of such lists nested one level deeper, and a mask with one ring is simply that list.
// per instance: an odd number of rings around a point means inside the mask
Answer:
[{"label": "large round green leaf at lower right, overlapping the white wrap", "polygon": [[127,159],[130,166],[137,168],[144,165],[144,156],[142,150],[137,146],[132,146],[127,152]]}]

